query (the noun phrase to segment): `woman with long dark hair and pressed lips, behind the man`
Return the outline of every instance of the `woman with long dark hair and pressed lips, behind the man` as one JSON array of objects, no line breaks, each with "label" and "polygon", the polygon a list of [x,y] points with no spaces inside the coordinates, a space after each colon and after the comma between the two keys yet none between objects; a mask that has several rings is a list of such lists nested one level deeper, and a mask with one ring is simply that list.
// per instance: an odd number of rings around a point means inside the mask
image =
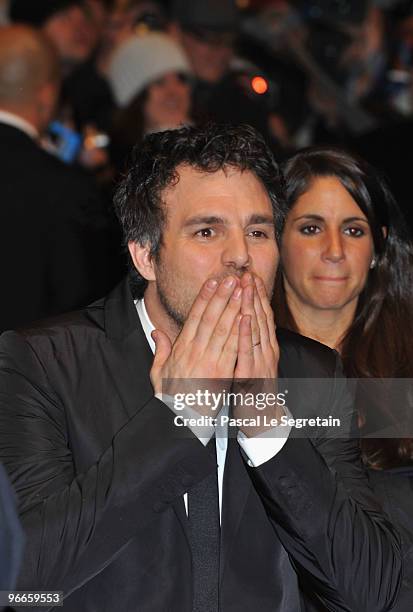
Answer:
[{"label": "woman with long dark hair and pressed lips, behind the man", "polygon": [[[289,159],[284,175],[277,323],[339,351],[348,377],[413,378],[413,247],[385,182],[361,159],[320,147]],[[357,407],[362,432],[380,421],[375,411],[388,423],[401,414],[371,392]],[[361,443],[371,467],[413,465],[410,437]]]}]

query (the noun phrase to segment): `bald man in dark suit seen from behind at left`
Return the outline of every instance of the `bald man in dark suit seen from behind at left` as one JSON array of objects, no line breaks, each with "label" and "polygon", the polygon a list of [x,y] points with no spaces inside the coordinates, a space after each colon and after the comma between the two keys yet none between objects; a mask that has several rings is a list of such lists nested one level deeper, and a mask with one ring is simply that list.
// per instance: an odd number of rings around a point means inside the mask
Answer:
[{"label": "bald man in dark suit seen from behind at left", "polygon": [[107,225],[89,181],[42,150],[59,94],[51,43],[0,29],[0,332],[87,303],[111,285]]}]

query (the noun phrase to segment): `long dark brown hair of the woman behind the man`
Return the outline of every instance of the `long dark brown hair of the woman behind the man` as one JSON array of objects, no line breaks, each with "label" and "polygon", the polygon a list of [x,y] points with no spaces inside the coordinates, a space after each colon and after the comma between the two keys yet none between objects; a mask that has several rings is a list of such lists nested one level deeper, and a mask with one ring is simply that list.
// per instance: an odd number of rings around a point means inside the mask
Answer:
[{"label": "long dark brown hair of the woman behind the man", "polygon": [[[412,378],[413,248],[407,224],[385,181],[362,159],[328,147],[297,153],[286,162],[283,173],[288,210],[315,178],[335,177],[369,222],[376,265],[369,272],[354,320],[342,341],[347,376]],[[281,268],[276,285],[277,322],[298,331],[287,306]],[[413,461],[413,444],[407,438],[363,440],[363,451],[376,467]]]}]

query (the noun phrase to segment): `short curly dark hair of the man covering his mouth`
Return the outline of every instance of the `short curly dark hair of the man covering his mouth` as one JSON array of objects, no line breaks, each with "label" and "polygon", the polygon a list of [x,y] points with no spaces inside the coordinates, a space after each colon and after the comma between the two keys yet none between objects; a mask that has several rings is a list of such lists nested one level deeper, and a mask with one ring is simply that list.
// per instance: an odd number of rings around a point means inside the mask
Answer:
[{"label": "short curly dark hair of the man covering his mouth", "polygon": [[[211,173],[226,168],[253,172],[269,195],[280,235],[285,215],[282,175],[264,139],[249,125],[209,124],[149,134],[134,147],[114,198],[124,246],[149,244],[151,256],[157,258],[167,221],[162,195],[179,181],[179,166]],[[138,272],[134,280],[145,283]]]}]

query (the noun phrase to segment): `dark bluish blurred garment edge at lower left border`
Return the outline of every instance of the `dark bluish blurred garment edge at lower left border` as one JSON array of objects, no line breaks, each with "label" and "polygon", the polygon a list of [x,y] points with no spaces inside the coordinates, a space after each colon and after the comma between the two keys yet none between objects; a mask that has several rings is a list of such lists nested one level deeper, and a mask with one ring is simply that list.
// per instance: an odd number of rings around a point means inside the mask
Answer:
[{"label": "dark bluish blurred garment edge at lower left border", "polygon": [[14,492],[0,465],[0,591],[14,588],[22,552],[23,532],[17,517]]}]

